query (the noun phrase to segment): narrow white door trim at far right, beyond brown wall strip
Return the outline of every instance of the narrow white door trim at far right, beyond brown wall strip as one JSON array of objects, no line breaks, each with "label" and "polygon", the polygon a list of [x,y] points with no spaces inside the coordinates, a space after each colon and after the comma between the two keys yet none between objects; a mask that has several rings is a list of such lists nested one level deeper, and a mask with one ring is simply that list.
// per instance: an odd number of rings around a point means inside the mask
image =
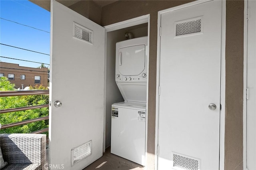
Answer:
[{"label": "narrow white door trim at far right, beyond brown wall strip", "polygon": [[248,0],[244,0],[244,91],[243,91],[243,169],[247,168],[247,99],[246,99],[246,89],[247,89],[247,38],[248,38]]}]

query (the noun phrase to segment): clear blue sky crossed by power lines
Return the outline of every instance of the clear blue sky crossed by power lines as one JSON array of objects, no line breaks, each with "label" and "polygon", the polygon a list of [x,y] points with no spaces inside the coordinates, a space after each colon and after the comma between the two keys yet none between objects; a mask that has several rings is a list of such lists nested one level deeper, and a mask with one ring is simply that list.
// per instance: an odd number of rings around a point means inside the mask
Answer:
[{"label": "clear blue sky crossed by power lines", "polygon": [[[46,32],[0,19],[0,43],[50,54],[50,12],[28,0],[0,0],[0,17]],[[50,56],[0,45],[0,56],[50,64]],[[0,61],[25,67],[31,63],[0,57]],[[46,65],[47,67],[48,65]]]}]

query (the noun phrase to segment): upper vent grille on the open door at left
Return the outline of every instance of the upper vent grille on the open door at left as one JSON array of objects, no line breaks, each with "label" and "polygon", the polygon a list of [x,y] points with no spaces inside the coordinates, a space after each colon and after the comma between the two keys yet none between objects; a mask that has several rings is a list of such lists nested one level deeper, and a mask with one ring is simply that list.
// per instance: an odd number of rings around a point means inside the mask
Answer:
[{"label": "upper vent grille on the open door at left", "polygon": [[92,43],[92,30],[74,22],[74,37]]}]

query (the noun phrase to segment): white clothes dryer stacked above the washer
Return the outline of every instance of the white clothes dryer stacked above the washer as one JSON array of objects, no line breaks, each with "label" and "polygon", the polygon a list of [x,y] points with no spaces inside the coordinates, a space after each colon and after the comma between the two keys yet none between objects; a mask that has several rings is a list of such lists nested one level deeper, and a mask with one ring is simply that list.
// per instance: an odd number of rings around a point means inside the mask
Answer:
[{"label": "white clothes dryer stacked above the washer", "polygon": [[116,84],[124,101],[146,103],[148,37],[116,43]]}]

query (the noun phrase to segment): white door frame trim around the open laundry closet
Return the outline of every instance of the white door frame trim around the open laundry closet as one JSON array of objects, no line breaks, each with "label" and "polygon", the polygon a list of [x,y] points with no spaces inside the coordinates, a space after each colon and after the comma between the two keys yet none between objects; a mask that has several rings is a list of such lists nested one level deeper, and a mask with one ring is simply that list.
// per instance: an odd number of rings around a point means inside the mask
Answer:
[{"label": "white door frame trim around the open laundry closet", "polygon": [[[110,24],[110,25],[107,25],[107,26],[104,26],[105,28],[105,55],[104,55],[104,121],[103,121],[103,153],[105,152],[106,150],[106,70],[107,70],[107,33],[108,32],[112,32],[112,31],[116,31],[116,30],[120,30],[120,29],[123,29],[123,28],[127,28],[127,27],[131,27],[131,26],[136,26],[136,25],[139,25],[139,24],[144,24],[144,23],[148,23],[148,49],[149,49],[149,46],[150,46],[150,42],[149,42],[149,38],[150,38],[150,14],[147,14],[147,15],[144,15],[144,16],[139,16],[139,17],[136,17],[136,18],[132,18],[132,19],[129,19],[129,20],[125,20],[125,21],[121,21],[121,22],[117,22],[117,23],[114,23],[114,24]],[[147,62],[147,65],[148,65],[148,77],[150,76],[150,73],[149,73],[149,50],[148,50],[148,62]],[[147,101],[147,104],[146,104],[146,110],[148,111],[148,81],[147,81],[147,97],[146,97],[146,101]],[[147,143],[148,143],[148,114],[146,114],[146,141],[145,141],[145,152],[146,152],[146,155],[145,155],[145,160],[146,160],[146,165],[145,167],[147,167]]]}]

